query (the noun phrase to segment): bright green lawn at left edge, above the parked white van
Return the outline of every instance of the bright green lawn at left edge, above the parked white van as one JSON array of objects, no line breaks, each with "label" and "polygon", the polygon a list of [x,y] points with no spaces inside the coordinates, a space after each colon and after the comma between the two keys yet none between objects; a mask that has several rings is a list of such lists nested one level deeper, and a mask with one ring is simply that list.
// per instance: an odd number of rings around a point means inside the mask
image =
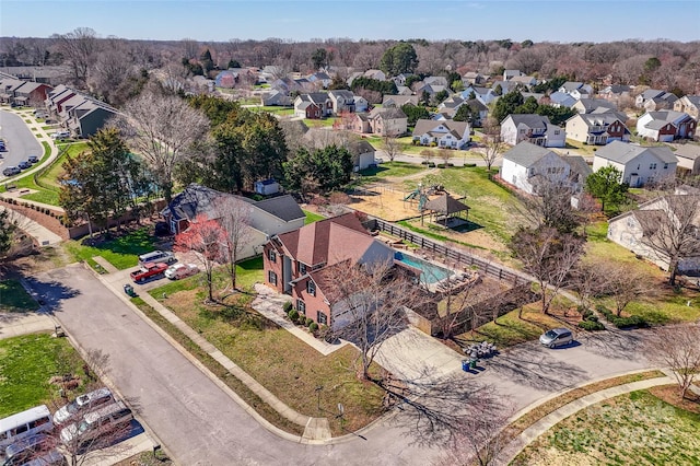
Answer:
[{"label": "bright green lawn at left edge, above the parked white van", "polygon": [[0,340],[0,418],[58,399],[49,378],[80,375],[82,364],[66,338],[33,334]]}]

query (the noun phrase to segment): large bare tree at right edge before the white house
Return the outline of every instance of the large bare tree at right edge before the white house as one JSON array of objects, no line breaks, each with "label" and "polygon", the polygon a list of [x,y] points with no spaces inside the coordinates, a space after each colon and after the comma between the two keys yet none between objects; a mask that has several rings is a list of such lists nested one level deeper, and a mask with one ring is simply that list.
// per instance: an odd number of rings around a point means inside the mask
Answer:
[{"label": "large bare tree at right edge before the white house", "polygon": [[641,242],[668,263],[668,282],[676,284],[680,260],[700,254],[700,196],[667,194],[638,212]]}]

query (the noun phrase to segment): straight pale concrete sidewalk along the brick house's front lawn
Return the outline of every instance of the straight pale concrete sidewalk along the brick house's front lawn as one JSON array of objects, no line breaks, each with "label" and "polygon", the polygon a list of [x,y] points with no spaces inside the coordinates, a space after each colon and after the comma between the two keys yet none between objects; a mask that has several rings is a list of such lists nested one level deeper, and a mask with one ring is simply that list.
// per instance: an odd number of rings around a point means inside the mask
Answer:
[{"label": "straight pale concrete sidewalk along the brick house's front lawn", "polygon": [[[125,299],[124,290],[122,290],[122,281],[124,278],[121,273],[107,273],[100,275],[100,280],[109,288],[115,294]],[[261,384],[259,384],[255,378],[248,375],[243,369],[236,365],[231,359],[224,356],[221,351],[219,351],[213,345],[207,341],[201,335],[195,331],[191,327],[189,327],[185,322],[183,322],[177,315],[175,315],[172,311],[165,307],[163,304],[158,302],[153,296],[151,296],[148,292],[141,292],[139,296],[153,310],[155,310],[159,314],[161,314],[165,319],[167,319],[171,324],[176,326],[183,334],[185,334],[190,340],[192,340],[199,348],[206,351],[209,356],[211,356],[214,360],[217,360],[222,366],[224,366],[232,375],[243,382],[250,391],[253,391],[257,396],[259,396],[265,403],[270,405],[277,412],[282,415],[288,420],[304,427],[304,434],[302,439],[307,441],[308,443],[324,443],[331,439],[330,427],[328,424],[328,420],[326,418],[312,418],[310,416],[304,416],[300,412],[296,412],[284,403],[282,403],[278,397],[276,397],[272,393],[270,393],[267,388],[265,388]],[[129,305],[133,306],[133,304],[125,300]],[[133,306],[135,307],[135,306]],[[150,319],[149,319],[150,322]],[[161,329],[161,331],[163,331]],[[185,356],[194,361],[194,357],[185,351]],[[218,384],[222,384],[222,382],[215,377],[214,382]],[[213,378],[212,378],[213,380]],[[234,398],[238,404],[243,401],[240,398]],[[246,409],[252,416],[258,418],[260,421],[260,416],[249,406],[243,404],[244,409]],[[262,419],[264,421],[264,419]],[[266,424],[267,422],[260,422],[261,424]]]}]

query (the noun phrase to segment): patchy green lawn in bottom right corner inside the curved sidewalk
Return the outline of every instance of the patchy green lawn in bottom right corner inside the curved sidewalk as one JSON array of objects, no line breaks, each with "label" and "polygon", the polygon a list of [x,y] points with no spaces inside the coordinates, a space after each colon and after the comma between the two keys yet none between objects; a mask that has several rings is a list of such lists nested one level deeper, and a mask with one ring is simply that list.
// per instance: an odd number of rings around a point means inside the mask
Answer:
[{"label": "patchy green lawn in bottom right corner inside the curved sidewalk", "polygon": [[698,465],[700,413],[632,392],[564,419],[512,464]]}]

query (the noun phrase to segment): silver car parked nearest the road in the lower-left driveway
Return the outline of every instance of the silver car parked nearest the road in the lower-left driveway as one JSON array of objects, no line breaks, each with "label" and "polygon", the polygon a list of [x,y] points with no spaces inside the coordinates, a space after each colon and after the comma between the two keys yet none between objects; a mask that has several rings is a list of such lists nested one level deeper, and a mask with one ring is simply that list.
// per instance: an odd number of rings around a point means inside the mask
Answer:
[{"label": "silver car parked nearest the road in the lower-left driveway", "polygon": [[115,401],[85,415],[83,420],[61,429],[61,441],[66,445],[84,444],[102,435],[115,432],[120,426],[131,422],[133,415],[124,401]]}]

